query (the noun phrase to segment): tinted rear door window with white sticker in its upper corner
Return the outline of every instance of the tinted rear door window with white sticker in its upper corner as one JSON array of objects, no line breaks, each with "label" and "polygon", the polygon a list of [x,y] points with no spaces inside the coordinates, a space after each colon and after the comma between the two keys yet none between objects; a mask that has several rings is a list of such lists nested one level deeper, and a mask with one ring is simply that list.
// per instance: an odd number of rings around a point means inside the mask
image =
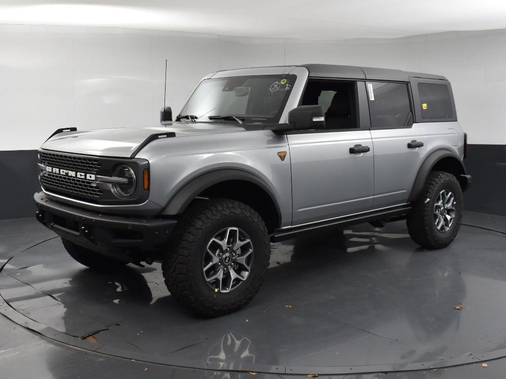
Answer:
[{"label": "tinted rear door window with white sticker in its upper corner", "polygon": [[373,128],[402,128],[413,124],[407,84],[367,82]]}]

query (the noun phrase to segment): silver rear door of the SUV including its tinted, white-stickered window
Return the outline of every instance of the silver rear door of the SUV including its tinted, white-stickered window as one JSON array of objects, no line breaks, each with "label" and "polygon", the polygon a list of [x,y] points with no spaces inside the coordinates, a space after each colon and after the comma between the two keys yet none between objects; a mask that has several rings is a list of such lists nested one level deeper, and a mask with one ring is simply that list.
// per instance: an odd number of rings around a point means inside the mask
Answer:
[{"label": "silver rear door of the SUV including its tinted, white-stickered window", "polygon": [[404,204],[426,152],[425,134],[413,124],[408,83],[366,84],[374,146],[373,207]]}]

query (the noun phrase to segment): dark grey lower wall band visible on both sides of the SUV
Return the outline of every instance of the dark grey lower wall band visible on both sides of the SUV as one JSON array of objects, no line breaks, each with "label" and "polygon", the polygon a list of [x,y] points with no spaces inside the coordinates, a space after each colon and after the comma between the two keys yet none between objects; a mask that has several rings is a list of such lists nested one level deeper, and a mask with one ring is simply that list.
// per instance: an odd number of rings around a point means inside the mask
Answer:
[{"label": "dark grey lower wall band visible on both sides of the SUV", "polygon": [[[39,191],[37,151],[0,151],[0,219],[31,217]],[[466,159],[473,183],[465,194],[467,210],[506,216],[506,145],[470,145]]]}]

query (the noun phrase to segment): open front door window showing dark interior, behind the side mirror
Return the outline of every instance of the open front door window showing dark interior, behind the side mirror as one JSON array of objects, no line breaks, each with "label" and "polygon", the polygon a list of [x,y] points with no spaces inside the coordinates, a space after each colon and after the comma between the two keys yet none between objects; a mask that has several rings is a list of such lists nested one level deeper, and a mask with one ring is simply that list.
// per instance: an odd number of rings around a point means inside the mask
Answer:
[{"label": "open front door window showing dark interior, behind the side mirror", "polygon": [[309,79],[302,105],[322,105],[325,129],[358,128],[357,83],[326,79]]}]

